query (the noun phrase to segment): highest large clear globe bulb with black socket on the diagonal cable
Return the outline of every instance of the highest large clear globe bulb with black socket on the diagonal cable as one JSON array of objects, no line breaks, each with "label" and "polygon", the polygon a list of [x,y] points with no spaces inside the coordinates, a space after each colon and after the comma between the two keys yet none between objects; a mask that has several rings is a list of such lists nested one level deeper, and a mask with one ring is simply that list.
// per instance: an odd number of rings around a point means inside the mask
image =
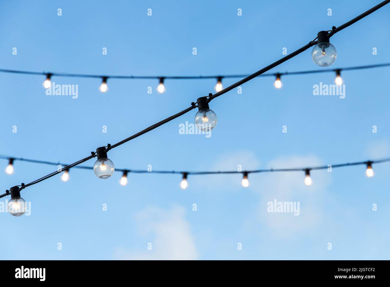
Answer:
[{"label": "highest large clear globe bulb with black socket on the diagonal cable", "polygon": [[328,67],[336,61],[336,48],[330,43],[329,38],[327,31],[319,32],[318,44],[312,50],[313,61],[320,67]]}]

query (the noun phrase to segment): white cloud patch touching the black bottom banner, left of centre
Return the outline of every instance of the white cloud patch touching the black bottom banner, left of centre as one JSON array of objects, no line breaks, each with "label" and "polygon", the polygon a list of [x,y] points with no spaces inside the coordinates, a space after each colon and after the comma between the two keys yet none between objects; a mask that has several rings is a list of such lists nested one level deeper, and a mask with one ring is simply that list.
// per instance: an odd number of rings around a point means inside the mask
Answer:
[{"label": "white cloud patch touching the black bottom banner, left of centre", "polygon": [[[140,234],[145,238],[143,250],[128,251],[118,248],[115,259],[122,260],[195,260],[199,255],[190,232],[190,225],[184,219],[183,207],[162,210],[149,207],[137,214]],[[147,250],[148,242],[152,250]]]}]

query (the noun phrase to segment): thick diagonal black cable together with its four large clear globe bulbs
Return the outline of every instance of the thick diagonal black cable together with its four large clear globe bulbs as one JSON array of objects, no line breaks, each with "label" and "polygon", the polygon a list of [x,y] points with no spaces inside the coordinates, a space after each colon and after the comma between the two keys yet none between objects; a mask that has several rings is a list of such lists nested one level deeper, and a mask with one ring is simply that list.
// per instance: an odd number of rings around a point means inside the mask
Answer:
[{"label": "thick diagonal black cable together with its four large clear globe bulbs", "polygon": [[[114,172],[114,166],[113,166],[113,163],[110,159],[107,158],[107,152],[112,150],[113,148],[121,145],[121,144],[124,144],[132,139],[135,139],[136,137],[139,137],[140,135],[143,135],[147,132],[150,132],[151,130],[154,130],[155,128],[157,127],[160,127],[161,125],[165,124],[165,123],[168,123],[169,121],[172,121],[173,119],[176,119],[178,118],[179,116],[182,116],[183,114],[186,114],[187,112],[195,109],[196,107],[199,109],[199,111],[197,112],[196,116],[195,116],[195,123],[200,123],[200,121],[203,121],[203,125],[204,127],[202,127],[201,129],[202,130],[206,130],[207,129],[212,129],[215,127],[216,125],[216,116],[215,116],[215,113],[213,111],[211,111],[209,109],[209,102],[211,102],[211,100],[217,98],[218,96],[221,96],[222,94],[225,94],[227,93],[228,91],[238,87],[238,86],[241,86],[242,84],[245,84],[246,82],[252,80],[253,78],[256,78],[258,77],[259,75],[265,73],[266,71],[269,71],[271,70],[272,68],[275,68],[276,66],[278,66],[279,64],[282,64],[283,62],[295,57],[296,55],[299,55],[300,53],[304,52],[305,50],[307,50],[308,48],[312,47],[312,46],[315,46],[313,51],[312,51],[312,57],[313,57],[313,61],[319,65],[319,66],[322,66],[322,67],[325,67],[325,66],[330,66],[331,64],[333,64],[333,62],[335,61],[335,49],[333,47],[332,44],[330,44],[330,37],[332,37],[336,32],[339,32],[340,30],[343,30],[345,29],[346,27],[348,27],[349,25],[352,25],[353,23],[355,23],[356,21],[358,20],[361,20],[362,18],[364,18],[365,16],[371,14],[372,12],[378,10],[379,8],[383,7],[384,5],[390,3],[390,0],[386,0],[386,1],[383,1],[381,2],[380,4],[376,5],[375,7],[372,7],[371,9],[369,9],[368,11],[360,14],[359,16],[357,16],[356,18],[354,18],[353,20],[351,21],[348,21],[347,23],[345,23],[344,25],[341,25],[340,27],[336,28],[335,26],[332,27],[332,31],[331,32],[328,32],[328,31],[320,31],[316,37],[316,39],[314,39],[313,41],[310,41],[307,45],[301,47],[300,49],[294,51],[293,53],[289,54],[289,55],[286,55],[285,57],[283,57],[282,59],[274,62],[273,64],[270,64],[269,66],[265,67],[265,68],[262,68],[261,70],[253,73],[252,75],[249,75],[248,77],[245,77],[244,79],[242,80],[239,80],[238,82],[236,82],[235,84],[232,84],[230,85],[229,87],[226,87],[225,89],[222,89],[221,91],[215,93],[215,94],[212,94],[210,93],[208,98],[206,96],[204,97],[200,97],[197,99],[197,105],[192,102],[191,103],[191,106],[188,107],[187,109],[184,109],[183,111],[181,112],[178,112],[177,114],[173,115],[173,116],[170,116],[166,119],[163,119],[162,121],[158,122],[158,123],[155,123],[154,125],[151,125],[150,127],[147,127],[145,128],[144,130],[138,132],[137,134],[134,134],[122,141],[120,141],[119,143],[116,143],[116,144],[107,144],[107,146],[103,146],[103,147],[99,147],[96,149],[96,152],[91,152],[91,155],[88,156],[88,157],[85,157],[84,159],[81,159],[81,160],[78,160],[76,162],[74,162],[73,164],[69,164],[67,166],[65,166],[63,169],[60,169],[58,171],[55,171],[53,173],[50,173],[46,176],[43,176],[37,180],[34,180],[28,184],[24,184],[22,183],[21,185],[16,185],[16,186],[13,186],[11,187],[10,190],[7,190],[5,194],[2,194],[0,195],[0,198],[1,197],[4,197],[4,196],[7,196],[7,195],[11,195],[11,200],[9,202],[9,211],[10,211],[10,208],[11,208],[11,211],[10,213],[14,216],[20,216],[24,213],[21,212],[20,210],[20,203],[23,203],[24,200],[23,198],[20,197],[20,191],[25,189],[26,187],[29,187],[31,185],[34,185],[34,184],[37,184],[43,180],[46,180],[54,175],[57,175],[58,173],[61,173],[61,172],[64,172],[64,171],[69,171],[70,168],[73,168],[75,166],[78,166],[79,164],[82,164],[83,162],[87,161],[87,160],[90,160],[94,157],[97,157],[97,160],[94,164],[94,172],[95,174],[99,177],[99,178],[108,178],[110,177],[113,172]],[[333,51],[334,50],[334,51]],[[34,72],[32,72],[34,73]],[[47,75],[47,78],[50,78],[52,76],[51,74]],[[105,80],[107,80],[108,77],[105,77]],[[103,83],[102,84],[105,84],[104,83],[104,78],[103,78]],[[209,123],[209,121],[211,121],[211,123]],[[207,125],[207,127],[206,127]],[[360,164],[367,164],[367,170],[370,170],[367,172],[367,175],[371,175],[371,172],[372,172],[372,168],[371,168],[371,164],[373,162],[369,162],[369,164],[367,162],[362,162]],[[357,164],[357,163],[355,163]],[[317,168],[318,169],[318,168]],[[278,171],[282,171],[283,169],[280,169]],[[310,170],[311,169],[306,169],[305,172],[306,172],[306,176],[308,178],[310,178]],[[225,173],[230,173],[230,172],[225,172]],[[183,178],[184,179],[184,178]],[[310,184],[311,184],[311,180],[310,180]],[[11,205],[10,205],[11,204]],[[22,204],[23,205],[23,204]]]}]

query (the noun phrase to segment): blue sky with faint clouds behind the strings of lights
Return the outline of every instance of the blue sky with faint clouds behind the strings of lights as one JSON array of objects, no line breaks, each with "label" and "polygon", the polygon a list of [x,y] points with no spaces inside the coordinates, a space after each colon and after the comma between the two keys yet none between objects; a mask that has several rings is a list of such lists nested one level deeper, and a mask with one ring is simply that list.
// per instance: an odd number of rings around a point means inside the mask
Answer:
[{"label": "blue sky with faint clouds behind the strings of lights", "polygon": [[[320,30],[378,3],[4,2],[0,67],[108,75],[252,73],[280,59],[284,47],[291,53]],[[332,68],[389,62],[389,12],[387,5],[335,34]],[[321,68],[309,49],[272,71],[316,69]],[[191,171],[388,157],[388,77],[389,68],[346,71],[344,99],[313,95],[313,85],[333,84],[333,73],[282,77],[280,90],[272,77],[257,78],[242,86],[242,94],[233,90],[210,103],[218,116],[210,138],[179,134],[179,124],[193,122],[192,111],[113,149],[109,158],[117,168],[151,164]],[[100,93],[98,79],[53,77],[57,84],[78,85],[78,98],[72,99],[46,95],[43,80],[1,74],[1,153],[74,162],[185,109],[215,86],[213,79],[167,80],[166,92],[159,94],[157,80],[110,79],[108,92]],[[7,162],[0,162],[5,168]],[[14,168],[11,176],[0,173],[4,191],[55,170],[27,162]],[[388,259],[388,168],[374,165],[373,178],[365,176],[364,166],[313,171],[310,187],[303,173],[253,174],[247,189],[240,175],[189,176],[184,191],[180,175],[129,174],[122,187],[121,173],[101,180],[92,171],[73,169],[69,182],[55,176],[22,192],[31,202],[30,216],[0,214],[0,244],[18,246],[4,248],[0,259]],[[299,201],[300,215],[268,213],[267,202],[275,199]]]}]

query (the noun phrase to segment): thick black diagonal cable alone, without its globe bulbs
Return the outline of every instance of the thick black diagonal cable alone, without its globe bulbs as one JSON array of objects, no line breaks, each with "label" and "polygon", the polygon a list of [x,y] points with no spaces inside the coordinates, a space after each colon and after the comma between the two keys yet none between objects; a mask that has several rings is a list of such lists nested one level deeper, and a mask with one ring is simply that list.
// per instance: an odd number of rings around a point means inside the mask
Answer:
[{"label": "thick black diagonal cable alone, without its globe bulbs", "polygon": [[[344,29],[344,28],[346,28],[346,27],[352,25],[352,24],[355,23],[356,21],[361,20],[361,19],[364,18],[365,16],[371,14],[372,12],[378,10],[379,8],[383,7],[384,5],[386,5],[386,4],[388,4],[388,3],[390,3],[390,0],[386,0],[386,1],[381,2],[380,4],[376,5],[375,7],[372,7],[370,10],[368,10],[368,11],[366,11],[366,12],[360,14],[359,16],[357,16],[356,18],[352,19],[351,21],[348,21],[347,23],[341,25],[339,28],[336,28],[336,27],[333,26],[333,27],[332,27],[332,32],[330,32],[330,33],[328,34],[328,37],[332,37],[333,34],[335,34],[336,32],[339,32],[340,30],[342,30],[342,29]],[[244,79],[242,79],[242,80],[236,82],[235,84],[232,84],[231,86],[226,87],[226,88],[223,89],[222,91],[219,91],[219,92],[216,93],[216,94],[211,94],[211,93],[210,93],[210,94],[209,94],[209,99],[207,100],[207,102],[210,102],[210,101],[213,100],[214,98],[216,98],[216,97],[218,97],[218,96],[221,96],[222,94],[227,93],[228,91],[230,91],[230,90],[232,90],[232,89],[234,89],[234,88],[236,88],[236,87],[238,87],[238,86],[240,86],[240,85],[242,85],[242,84],[248,82],[249,80],[252,80],[252,79],[255,78],[255,77],[258,77],[259,75],[265,73],[266,71],[269,71],[269,70],[271,70],[272,68],[275,68],[275,67],[278,66],[279,64],[281,64],[281,63],[283,63],[283,62],[285,62],[285,61],[291,59],[292,57],[295,57],[296,55],[298,55],[298,54],[304,52],[305,50],[307,50],[308,48],[310,48],[311,46],[314,46],[314,45],[316,45],[316,44],[317,44],[317,41],[310,41],[307,45],[303,46],[302,48],[300,48],[300,49],[294,51],[293,53],[291,53],[291,54],[285,56],[284,58],[282,58],[282,59],[280,59],[280,60],[274,62],[273,64],[270,64],[269,66],[267,66],[267,67],[265,67],[265,68],[262,68],[261,70],[259,70],[259,71],[255,72],[255,73],[253,73],[252,75],[249,75],[248,77],[246,77],[246,78],[244,78]],[[13,71],[13,70],[7,70],[7,71],[12,72],[12,73],[20,73],[20,71]],[[28,73],[29,73],[29,74],[35,74],[35,75],[37,74],[37,72],[28,72]],[[38,73],[38,74],[39,74],[39,75],[42,75],[42,74],[44,74],[44,75],[48,75],[48,74],[53,75],[53,73]],[[66,76],[69,76],[70,74],[61,74],[61,75],[63,75],[64,77],[66,77]],[[81,75],[81,74],[79,74],[79,76],[80,76],[80,77],[87,77],[87,76],[90,76],[90,77],[94,77],[94,78],[99,78],[99,77],[101,77],[101,76],[96,76],[96,75]],[[104,78],[108,78],[108,77],[104,76]],[[161,78],[161,77],[160,77],[160,78]],[[119,146],[119,145],[121,145],[121,144],[123,144],[123,143],[126,143],[126,142],[130,141],[131,139],[134,139],[134,138],[136,138],[136,137],[138,137],[138,136],[140,136],[140,135],[142,135],[142,134],[145,134],[145,133],[147,133],[147,132],[153,130],[154,128],[160,127],[161,125],[163,125],[163,124],[165,124],[165,123],[168,123],[168,122],[171,121],[172,119],[175,119],[175,118],[177,118],[177,117],[179,117],[179,116],[181,116],[181,115],[183,115],[183,114],[185,114],[185,113],[191,111],[192,109],[195,109],[195,107],[197,107],[197,106],[195,105],[195,103],[192,102],[192,103],[191,103],[191,107],[189,107],[189,108],[187,108],[187,109],[185,109],[185,110],[183,110],[183,111],[181,111],[181,112],[175,114],[174,116],[170,116],[169,118],[166,118],[166,119],[164,119],[164,120],[162,120],[162,121],[160,121],[160,122],[158,122],[158,123],[156,123],[156,124],[154,124],[154,125],[152,125],[152,126],[150,126],[150,127],[148,127],[148,128],[145,128],[145,129],[142,130],[141,132],[138,132],[137,134],[132,135],[131,137],[128,137],[127,139],[124,139],[123,141],[120,141],[119,143],[113,144],[112,146],[109,144],[108,147],[107,147],[107,149],[106,149],[106,151],[108,152],[108,151],[111,150],[112,148],[115,148],[115,147],[117,147],[117,146]],[[43,177],[41,177],[41,178],[39,178],[39,179],[37,179],[37,180],[34,180],[33,182],[30,182],[30,183],[27,184],[27,185],[21,184],[20,190],[21,190],[21,189],[24,189],[25,187],[28,187],[28,186],[30,186],[30,185],[36,184],[36,183],[38,183],[38,182],[41,182],[41,181],[43,181],[43,180],[45,180],[45,179],[48,179],[48,178],[50,178],[51,176],[54,176],[54,175],[56,175],[56,174],[58,174],[58,173],[61,173],[62,171],[65,171],[65,170],[67,170],[67,169],[69,169],[69,168],[73,168],[74,166],[77,166],[78,164],[81,164],[81,163],[83,163],[83,162],[85,162],[85,161],[87,161],[87,160],[89,160],[89,159],[92,159],[92,158],[95,157],[95,156],[96,156],[96,155],[95,155],[95,152],[92,152],[92,155],[90,155],[89,157],[86,157],[86,158],[84,158],[84,159],[82,159],[82,160],[78,160],[77,162],[74,162],[73,164],[70,164],[70,165],[66,166],[66,167],[63,168],[61,171],[55,171],[55,172],[53,172],[53,173],[50,173],[50,174],[48,174],[48,175],[46,175],[46,176],[43,176]],[[362,163],[361,163],[361,164],[362,164]],[[279,170],[279,171],[282,171],[282,170]],[[259,172],[260,172],[260,171],[259,171]],[[0,196],[0,198],[2,198],[3,196],[7,196],[7,195],[9,195],[9,194],[10,194],[9,191],[7,190],[5,194],[2,194],[2,195]]]}]

